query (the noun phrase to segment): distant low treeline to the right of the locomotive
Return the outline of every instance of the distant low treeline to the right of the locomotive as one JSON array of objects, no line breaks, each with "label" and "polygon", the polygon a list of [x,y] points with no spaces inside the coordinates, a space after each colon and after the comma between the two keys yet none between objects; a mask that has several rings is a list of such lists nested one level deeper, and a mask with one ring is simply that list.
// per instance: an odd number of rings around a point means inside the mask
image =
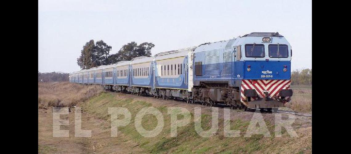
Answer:
[{"label": "distant low treeline to the right of the locomotive", "polygon": [[292,85],[312,85],[312,69],[294,70],[291,72]]}]

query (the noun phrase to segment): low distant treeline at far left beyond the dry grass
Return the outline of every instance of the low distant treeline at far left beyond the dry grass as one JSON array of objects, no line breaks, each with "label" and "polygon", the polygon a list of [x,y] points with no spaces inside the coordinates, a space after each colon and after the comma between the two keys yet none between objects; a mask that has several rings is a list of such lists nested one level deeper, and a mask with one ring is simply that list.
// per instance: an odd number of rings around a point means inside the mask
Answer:
[{"label": "low distant treeline at far left beyond the dry grass", "polygon": [[69,81],[69,73],[40,73],[38,71],[38,82]]}]

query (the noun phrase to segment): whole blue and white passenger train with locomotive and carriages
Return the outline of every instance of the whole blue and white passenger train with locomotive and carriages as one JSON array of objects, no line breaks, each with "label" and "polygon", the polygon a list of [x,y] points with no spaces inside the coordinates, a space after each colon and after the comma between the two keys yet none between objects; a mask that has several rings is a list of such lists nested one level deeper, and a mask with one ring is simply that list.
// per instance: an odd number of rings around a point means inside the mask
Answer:
[{"label": "whole blue and white passenger train with locomotive and carriages", "polygon": [[186,103],[271,111],[291,101],[291,56],[290,43],[278,32],[253,32],[72,72],[69,82]]}]

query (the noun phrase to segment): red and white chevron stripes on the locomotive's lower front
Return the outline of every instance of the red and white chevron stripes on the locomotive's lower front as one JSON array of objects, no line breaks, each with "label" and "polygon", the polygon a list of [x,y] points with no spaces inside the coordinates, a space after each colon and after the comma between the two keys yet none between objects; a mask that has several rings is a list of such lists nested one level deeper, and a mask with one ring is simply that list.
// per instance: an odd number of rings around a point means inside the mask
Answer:
[{"label": "red and white chevron stripes on the locomotive's lower front", "polygon": [[[241,101],[247,101],[244,96],[245,89],[255,89],[258,97],[251,97],[251,100],[265,98],[264,91],[269,92],[269,98],[276,99],[279,91],[290,88],[290,80],[242,80],[241,81]],[[289,97],[285,98],[286,100]]]}]

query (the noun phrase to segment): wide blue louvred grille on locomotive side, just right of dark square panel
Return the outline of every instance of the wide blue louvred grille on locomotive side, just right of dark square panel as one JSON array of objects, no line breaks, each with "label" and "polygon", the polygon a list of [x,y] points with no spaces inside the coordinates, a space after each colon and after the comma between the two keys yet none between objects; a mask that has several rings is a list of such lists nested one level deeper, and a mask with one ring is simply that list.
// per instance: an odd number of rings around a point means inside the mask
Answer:
[{"label": "wide blue louvred grille on locomotive side, just right of dark square panel", "polygon": [[205,75],[219,75],[219,49],[205,51]]}]

